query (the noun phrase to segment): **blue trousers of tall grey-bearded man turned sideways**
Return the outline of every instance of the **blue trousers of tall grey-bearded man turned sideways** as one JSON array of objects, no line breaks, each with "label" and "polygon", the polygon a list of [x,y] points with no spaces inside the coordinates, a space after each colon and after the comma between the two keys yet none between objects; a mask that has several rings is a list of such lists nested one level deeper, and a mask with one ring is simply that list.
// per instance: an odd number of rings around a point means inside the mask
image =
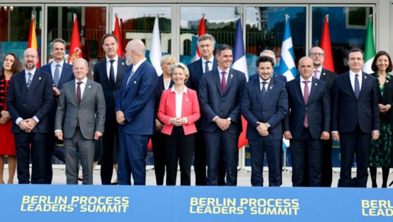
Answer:
[{"label": "blue trousers of tall grey-bearded man turned sideways", "polygon": [[119,185],[131,185],[131,173],[134,185],[146,183],[146,155],[150,136],[132,135],[119,132],[119,159],[117,181]]}]

